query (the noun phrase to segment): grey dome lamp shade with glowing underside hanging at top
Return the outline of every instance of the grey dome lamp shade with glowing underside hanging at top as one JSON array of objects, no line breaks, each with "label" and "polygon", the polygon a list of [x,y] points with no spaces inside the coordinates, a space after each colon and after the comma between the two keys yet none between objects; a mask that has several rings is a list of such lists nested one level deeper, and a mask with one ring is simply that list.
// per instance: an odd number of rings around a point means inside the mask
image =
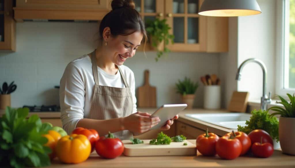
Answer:
[{"label": "grey dome lamp shade with glowing underside hanging at top", "polygon": [[248,16],[260,14],[256,0],[204,0],[199,15]]}]

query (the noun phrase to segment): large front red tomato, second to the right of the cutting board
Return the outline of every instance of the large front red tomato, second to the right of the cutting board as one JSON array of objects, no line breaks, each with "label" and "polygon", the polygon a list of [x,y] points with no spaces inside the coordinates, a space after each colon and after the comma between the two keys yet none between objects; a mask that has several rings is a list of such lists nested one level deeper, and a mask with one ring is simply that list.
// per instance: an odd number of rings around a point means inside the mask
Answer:
[{"label": "large front red tomato, second to the right of the cutting board", "polygon": [[223,136],[216,143],[216,152],[222,159],[235,159],[242,152],[242,144],[239,139],[235,139],[232,136]]}]

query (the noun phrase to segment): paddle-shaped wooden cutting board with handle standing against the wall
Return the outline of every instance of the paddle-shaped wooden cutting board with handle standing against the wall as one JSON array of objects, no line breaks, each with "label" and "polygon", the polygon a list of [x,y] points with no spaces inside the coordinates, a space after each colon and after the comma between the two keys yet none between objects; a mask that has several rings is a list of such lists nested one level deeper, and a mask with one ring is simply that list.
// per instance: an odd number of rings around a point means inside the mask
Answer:
[{"label": "paddle-shaped wooden cutting board with handle standing against the wall", "polygon": [[156,88],[149,84],[149,70],[145,70],[145,84],[138,88],[138,107],[157,107]]}]

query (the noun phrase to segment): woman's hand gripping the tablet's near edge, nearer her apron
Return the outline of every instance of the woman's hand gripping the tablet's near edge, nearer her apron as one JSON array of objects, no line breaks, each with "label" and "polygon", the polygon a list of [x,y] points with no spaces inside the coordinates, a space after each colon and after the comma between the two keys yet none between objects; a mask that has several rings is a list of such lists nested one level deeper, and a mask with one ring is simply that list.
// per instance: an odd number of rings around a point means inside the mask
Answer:
[{"label": "woman's hand gripping the tablet's near edge, nearer her apron", "polygon": [[133,133],[147,132],[160,122],[159,117],[150,117],[149,113],[136,112],[127,117],[122,118],[124,129],[128,129]]}]

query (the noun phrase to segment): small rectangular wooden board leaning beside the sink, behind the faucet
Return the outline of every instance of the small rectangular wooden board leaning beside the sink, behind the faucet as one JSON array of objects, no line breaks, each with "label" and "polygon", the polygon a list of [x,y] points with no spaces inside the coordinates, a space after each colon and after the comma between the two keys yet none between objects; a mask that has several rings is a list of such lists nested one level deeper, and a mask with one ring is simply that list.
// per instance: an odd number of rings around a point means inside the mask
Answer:
[{"label": "small rectangular wooden board leaning beside the sink, behind the faucet", "polygon": [[230,100],[230,105],[228,110],[231,112],[246,112],[249,99],[249,92],[237,92],[232,93],[232,98]]}]

